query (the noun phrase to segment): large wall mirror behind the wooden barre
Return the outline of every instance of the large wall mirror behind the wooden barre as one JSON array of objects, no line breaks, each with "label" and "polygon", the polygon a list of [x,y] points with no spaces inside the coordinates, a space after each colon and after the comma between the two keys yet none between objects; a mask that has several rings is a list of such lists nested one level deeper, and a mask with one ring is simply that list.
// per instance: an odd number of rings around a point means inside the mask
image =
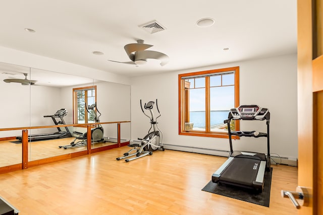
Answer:
[{"label": "large wall mirror behind the wooden barre", "polygon": [[[101,122],[130,121],[130,86],[104,82],[96,79],[78,77],[53,71],[30,68],[0,62],[0,90],[3,101],[0,110],[2,120],[0,128],[28,127],[55,125],[56,122],[64,121],[66,124],[76,124],[75,102],[84,99],[83,96],[75,98],[74,89],[82,89],[95,86],[95,99],[86,100],[87,107],[96,101],[96,108],[100,112]],[[81,93],[80,93],[81,94]],[[74,95],[74,96],[73,96]],[[93,95],[87,95],[89,97]],[[64,116],[51,117],[60,110],[66,112]],[[97,113],[97,112],[96,112]],[[84,113],[83,113],[84,114]],[[99,114],[98,114],[99,115]],[[89,123],[93,114],[87,113]],[[63,120],[62,120],[63,119]],[[59,148],[70,145],[79,133],[84,133],[84,126],[67,126],[61,128],[62,132],[70,132],[64,138],[46,140],[30,140],[28,160],[38,160],[72,152],[86,150],[86,147],[72,149]],[[28,130],[31,135],[58,133],[56,128],[39,128]],[[113,145],[117,142],[117,124],[102,124],[102,135],[106,142],[92,143],[92,148]],[[1,131],[0,138],[20,136],[21,130]],[[121,139],[130,139],[130,123],[121,125]],[[76,139],[81,141],[81,139]],[[21,163],[21,144],[19,139],[0,141],[0,151],[6,156],[0,156],[0,167]],[[12,159],[7,159],[12,157]],[[10,160],[10,161],[9,161]]]}]

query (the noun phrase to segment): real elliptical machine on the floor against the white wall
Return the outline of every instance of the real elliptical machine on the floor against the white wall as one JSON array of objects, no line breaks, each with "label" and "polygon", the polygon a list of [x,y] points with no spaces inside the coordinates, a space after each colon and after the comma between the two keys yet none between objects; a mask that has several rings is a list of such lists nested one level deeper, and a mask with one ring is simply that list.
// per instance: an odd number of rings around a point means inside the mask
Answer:
[{"label": "real elliptical machine on the floor against the white wall", "polygon": [[[158,123],[157,118],[161,116],[159,109],[158,109],[157,99],[156,99],[156,108],[157,108],[159,115],[156,118],[154,117],[154,114],[152,111],[153,105],[154,105],[153,101],[145,103],[145,105],[144,105],[144,109],[149,110],[150,115],[151,115],[151,117],[150,117],[143,110],[141,99],[140,99],[141,110],[142,110],[143,114],[150,119],[150,128],[148,130],[148,134],[145,135],[143,138],[138,138],[139,140],[141,140],[141,146],[139,149],[137,148],[137,147],[139,147],[139,144],[128,145],[128,147],[133,147],[133,149],[124,153],[123,157],[116,158],[117,161],[119,161],[121,159],[126,159],[125,161],[129,162],[129,161],[133,161],[138,158],[142,158],[146,155],[152,155],[152,152],[156,151],[158,149],[165,151],[165,148],[163,146],[163,132],[161,132],[161,130],[157,126],[157,123]],[[150,132],[151,129],[153,129],[153,131]],[[134,153],[132,153],[132,152],[134,152]],[[132,156],[135,156],[135,157],[129,158]]]}]

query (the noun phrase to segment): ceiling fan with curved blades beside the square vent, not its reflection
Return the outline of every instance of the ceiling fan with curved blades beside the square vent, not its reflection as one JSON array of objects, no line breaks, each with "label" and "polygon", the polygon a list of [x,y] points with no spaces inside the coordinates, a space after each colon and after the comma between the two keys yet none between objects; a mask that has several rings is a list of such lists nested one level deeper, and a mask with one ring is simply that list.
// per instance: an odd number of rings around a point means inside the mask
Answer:
[{"label": "ceiling fan with curved blades beside the square vent, not its reflection", "polygon": [[169,61],[169,56],[158,51],[146,50],[153,45],[144,44],[143,40],[137,40],[137,43],[130,43],[125,45],[125,50],[131,61],[119,62],[114,60],[109,60],[112,62],[126,63],[126,64],[146,64],[147,59],[157,59],[160,60],[160,65],[166,65]]}]

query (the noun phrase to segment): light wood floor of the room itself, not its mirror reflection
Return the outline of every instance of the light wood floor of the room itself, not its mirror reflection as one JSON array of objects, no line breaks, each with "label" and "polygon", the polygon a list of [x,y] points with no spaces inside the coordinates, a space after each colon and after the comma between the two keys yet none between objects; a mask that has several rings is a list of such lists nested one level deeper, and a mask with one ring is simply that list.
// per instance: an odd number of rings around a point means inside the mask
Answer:
[{"label": "light wood floor of the room itself, not its mirror reflection", "polygon": [[0,175],[0,195],[26,214],[297,214],[280,190],[297,168],[273,166],[270,207],[202,191],[223,157],[166,150],[126,163],[129,147]]}]

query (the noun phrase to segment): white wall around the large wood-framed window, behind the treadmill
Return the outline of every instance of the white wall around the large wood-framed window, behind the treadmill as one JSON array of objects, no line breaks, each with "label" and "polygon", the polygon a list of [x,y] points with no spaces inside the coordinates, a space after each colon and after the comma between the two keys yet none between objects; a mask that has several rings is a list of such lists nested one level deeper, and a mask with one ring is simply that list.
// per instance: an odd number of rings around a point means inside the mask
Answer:
[{"label": "white wall around the large wood-framed window, behind the treadmill", "polygon": [[[157,98],[162,114],[158,126],[164,132],[164,144],[229,151],[229,141],[226,138],[178,134],[178,74],[231,66],[240,66],[240,105],[257,104],[270,109],[271,154],[297,158],[296,54],[132,78],[132,139],[143,137],[149,129],[149,119],[142,114],[139,100],[147,102]],[[255,124],[242,121],[241,130],[266,131],[264,121],[252,122]],[[234,140],[233,144],[234,150],[266,153],[265,138],[241,137],[240,140]],[[223,155],[212,151],[197,152]]]}]

